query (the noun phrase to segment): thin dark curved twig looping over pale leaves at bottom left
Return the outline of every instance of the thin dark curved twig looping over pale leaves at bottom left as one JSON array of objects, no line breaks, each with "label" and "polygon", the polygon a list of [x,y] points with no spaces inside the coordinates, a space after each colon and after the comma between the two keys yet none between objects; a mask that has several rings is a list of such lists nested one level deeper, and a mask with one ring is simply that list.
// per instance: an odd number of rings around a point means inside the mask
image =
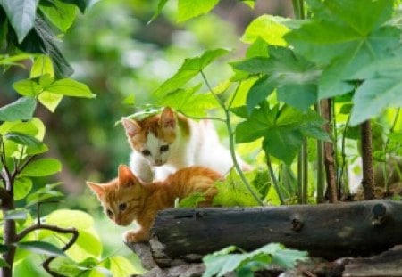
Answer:
[{"label": "thin dark curved twig looping over pale leaves at bottom left", "polygon": [[[26,235],[28,235],[29,232],[33,232],[33,231],[39,230],[39,229],[50,230],[50,231],[58,232],[58,233],[71,233],[72,234],[71,240],[64,245],[64,247],[62,248],[62,251],[66,251],[69,248],[71,248],[71,246],[75,243],[75,241],[78,239],[78,236],[79,236],[79,232],[75,228],[61,228],[58,226],[48,225],[48,224],[34,224],[34,225],[24,229],[19,234],[17,234],[15,236],[15,241],[18,242],[18,241],[22,240]],[[47,257],[46,260],[43,262],[42,266],[46,270],[46,272],[49,273],[50,275],[52,275],[54,277],[64,277],[64,275],[62,275],[60,273],[56,273],[50,269],[50,263],[55,258],[56,258],[55,256]]]}]

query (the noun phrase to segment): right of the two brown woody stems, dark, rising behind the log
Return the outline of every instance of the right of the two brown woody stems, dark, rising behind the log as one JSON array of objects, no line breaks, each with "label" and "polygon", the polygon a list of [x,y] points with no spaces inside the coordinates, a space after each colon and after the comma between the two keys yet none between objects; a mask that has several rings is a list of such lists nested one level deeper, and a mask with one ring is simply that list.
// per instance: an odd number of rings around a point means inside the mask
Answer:
[{"label": "right of the two brown woody stems, dark, rising behind the log", "polygon": [[370,120],[360,126],[362,136],[362,167],[363,167],[363,192],[365,200],[374,198],[374,169],[373,169],[373,146],[372,126]]}]

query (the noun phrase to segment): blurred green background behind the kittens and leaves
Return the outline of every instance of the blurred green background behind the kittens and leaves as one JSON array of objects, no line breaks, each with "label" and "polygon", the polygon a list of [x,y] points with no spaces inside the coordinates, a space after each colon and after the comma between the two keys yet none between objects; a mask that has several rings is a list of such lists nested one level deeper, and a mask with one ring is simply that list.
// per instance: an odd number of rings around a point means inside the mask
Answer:
[{"label": "blurred green background behind the kittens and leaves", "polygon": [[[36,116],[46,125],[45,141],[50,148],[47,155],[63,164],[55,181],[63,183],[66,193],[62,202],[48,205],[44,214],[55,208],[88,211],[96,217],[106,256],[117,251],[134,258],[121,240],[128,228],[106,219],[85,185],[86,180],[112,179],[117,166],[129,160],[129,144],[122,127],[115,123],[134,113],[136,106],[152,102],[151,93],[172,76],[185,58],[205,49],[234,46],[234,56],[230,57],[234,60],[244,52],[246,46],[239,38],[251,20],[264,13],[292,16],[290,0],[259,1],[254,10],[239,1],[224,0],[214,12],[178,24],[176,4],[168,2],[161,15],[147,24],[157,1],[92,1],[67,36],[61,37],[61,47],[75,71],[72,77],[87,84],[96,98],[66,97],[54,114],[43,107],[37,110]],[[214,64],[209,70],[207,75],[214,85],[230,76],[228,65]],[[27,71],[12,68],[0,77],[2,106],[17,97],[12,84],[28,77]],[[217,127],[223,132],[223,126]]]}]

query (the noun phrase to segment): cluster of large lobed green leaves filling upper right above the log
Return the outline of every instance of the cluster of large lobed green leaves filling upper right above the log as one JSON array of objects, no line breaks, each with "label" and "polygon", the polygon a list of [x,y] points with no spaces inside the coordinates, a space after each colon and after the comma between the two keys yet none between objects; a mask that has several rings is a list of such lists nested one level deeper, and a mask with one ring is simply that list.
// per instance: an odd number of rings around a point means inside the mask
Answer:
[{"label": "cluster of large lobed green leaves filling upper right above the log", "polygon": [[[166,3],[159,1],[155,16]],[[178,1],[178,21],[209,12],[218,3]],[[234,133],[236,143],[261,142],[267,160],[273,156],[290,166],[307,138],[334,141],[322,130],[325,120],[312,109],[322,99],[333,99],[341,114],[350,118],[345,129],[380,116],[386,108],[402,106],[397,4],[306,0],[308,19],[264,14],[241,37],[249,46],[242,61],[229,62],[230,80],[215,87],[209,84],[205,68],[230,52],[207,50],[186,59],[156,89],[156,104],[196,118],[220,106],[230,110],[243,120]],[[203,84],[197,84],[196,77],[202,77]],[[397,135],[389,135],[383,155],[397,153],[393,139]]]}]

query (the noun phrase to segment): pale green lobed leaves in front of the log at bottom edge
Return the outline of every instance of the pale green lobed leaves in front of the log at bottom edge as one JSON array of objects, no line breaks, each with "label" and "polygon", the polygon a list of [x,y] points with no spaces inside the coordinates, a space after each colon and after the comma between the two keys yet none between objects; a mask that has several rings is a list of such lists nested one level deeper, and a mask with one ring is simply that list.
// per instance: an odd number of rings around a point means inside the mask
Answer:
[{"label": "pale green lobed leaves in front of the log at bottom edge", "polygon": [[235,272],[236,276],[254,276],[255,271],[264,270],[272,265],[292,268],[297,261],[307,259],[303,251],[284,248],[281,244],[270,243],[249,253],[232,253],[241,249],[234,246],[223,248],[203,258],[205,273],[203,277],[223,276]]}]

